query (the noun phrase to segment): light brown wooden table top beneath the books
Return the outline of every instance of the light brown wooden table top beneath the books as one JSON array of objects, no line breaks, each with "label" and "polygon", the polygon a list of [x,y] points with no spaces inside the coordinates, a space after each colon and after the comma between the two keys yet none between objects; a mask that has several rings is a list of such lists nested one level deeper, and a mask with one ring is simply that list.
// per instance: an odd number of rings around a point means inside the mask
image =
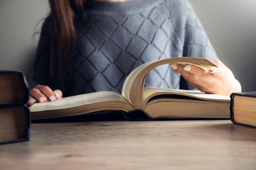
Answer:
[{"label": "light brown wooden table top beneath the books", "polygon": [[256,170],[256,128],[230,120],[36,123],[0,170]]}]

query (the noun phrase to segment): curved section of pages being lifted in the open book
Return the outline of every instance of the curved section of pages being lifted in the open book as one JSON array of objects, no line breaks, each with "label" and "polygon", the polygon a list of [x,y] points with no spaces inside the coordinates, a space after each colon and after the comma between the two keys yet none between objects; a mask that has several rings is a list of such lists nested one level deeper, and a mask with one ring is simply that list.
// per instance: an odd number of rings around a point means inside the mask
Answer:
[{"label": "curved section of pages being lifted in the open book", "polygon": [[124,96],[128,102],[132,103],[135,108],[142,109],[142,97],[146,76],[155,67],[171,63],[198,65],[200,68],[203,67],[208,71],[209,69],[213,70],[217,67],[206,58],[198,57],[173,57],[164,60],[147,62],[137,67],[130,73],[130,75],[128,75],[123,85],[122,96]]}]

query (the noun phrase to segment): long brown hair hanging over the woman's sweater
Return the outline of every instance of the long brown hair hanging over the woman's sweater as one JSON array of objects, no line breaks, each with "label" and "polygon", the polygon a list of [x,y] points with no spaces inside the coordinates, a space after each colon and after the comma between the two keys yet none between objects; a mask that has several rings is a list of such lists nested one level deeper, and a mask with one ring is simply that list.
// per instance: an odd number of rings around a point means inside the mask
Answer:
[{"label": "long brown hair hanging over the woman's sweater", "polygon": [[74,21],[85,7],[87,0],[49,0],[52,18],[51,75],[53,58],[57,52],[59,68],[63,75],[65,64],[76,46]]}]

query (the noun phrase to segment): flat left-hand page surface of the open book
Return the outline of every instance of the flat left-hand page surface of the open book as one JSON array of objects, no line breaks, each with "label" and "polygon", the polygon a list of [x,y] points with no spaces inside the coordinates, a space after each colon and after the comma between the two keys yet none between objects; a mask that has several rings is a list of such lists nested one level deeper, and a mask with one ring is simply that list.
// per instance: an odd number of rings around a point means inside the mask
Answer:
[{"label": "flat left-hand page surface of the open book", "polygon": [[124,97],[122,97],[119,93],[113,91],[100,91],[83,95],[63,97],[53,102],[35,103],[30,107],[30,111],[40,112],[45,110],[59,110],[107,101],[121,101],[128,103],[126,99],[124,99]]}]

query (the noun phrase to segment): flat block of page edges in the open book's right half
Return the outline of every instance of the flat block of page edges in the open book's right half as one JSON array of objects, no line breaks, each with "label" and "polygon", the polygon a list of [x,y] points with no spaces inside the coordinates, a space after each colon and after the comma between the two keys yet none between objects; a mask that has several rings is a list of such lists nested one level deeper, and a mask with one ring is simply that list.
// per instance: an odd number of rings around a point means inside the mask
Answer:
[{"label": "flat block of page edges in the open book's right half", "polygon": [[150,117],[230,118],[229,102],[156,99],[144,108]]}]

